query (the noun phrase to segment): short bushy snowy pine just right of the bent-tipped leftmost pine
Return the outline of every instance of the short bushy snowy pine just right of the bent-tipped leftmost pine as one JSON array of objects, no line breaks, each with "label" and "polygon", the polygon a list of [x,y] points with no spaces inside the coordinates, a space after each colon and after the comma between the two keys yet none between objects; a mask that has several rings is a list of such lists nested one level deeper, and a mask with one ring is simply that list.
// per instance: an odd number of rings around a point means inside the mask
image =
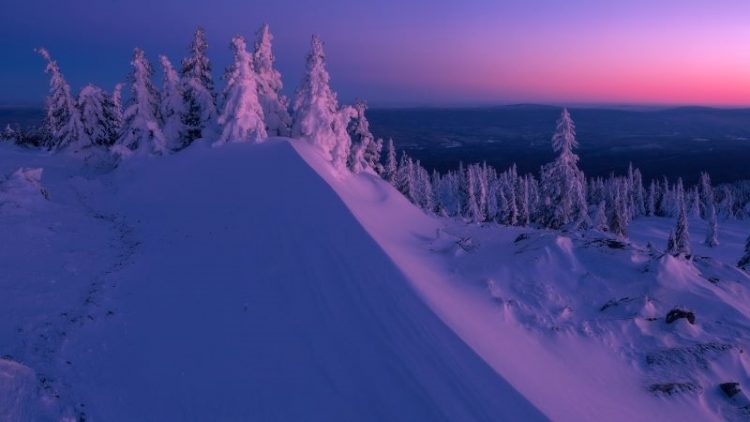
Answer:
[{"label": "short bushy snowy pine just right of the bent-tipped leftmost pine", "polygon": [[86,143],[110,146],[117,140],[115,106],[103,89],[91,84],[83,87],[78,93],[78,108]]}]

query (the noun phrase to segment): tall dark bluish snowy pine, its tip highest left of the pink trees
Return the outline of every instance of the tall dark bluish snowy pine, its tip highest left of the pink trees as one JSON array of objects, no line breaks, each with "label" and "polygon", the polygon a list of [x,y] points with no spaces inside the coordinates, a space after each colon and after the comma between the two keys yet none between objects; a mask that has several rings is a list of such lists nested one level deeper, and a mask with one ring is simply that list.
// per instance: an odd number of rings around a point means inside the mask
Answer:
[{"label": "tall dark bluish snowy pine, its tip highest left of the pink trees", "polygon": [[185,135],[182,147],[198,138],[213,135],[216,120],[216,94],[214,93],[211,62],[206,56],[208,43],[203,28],[198,28],[190,44],[188,57],[182,60],[182,83],[186,112],[183,115]]}]

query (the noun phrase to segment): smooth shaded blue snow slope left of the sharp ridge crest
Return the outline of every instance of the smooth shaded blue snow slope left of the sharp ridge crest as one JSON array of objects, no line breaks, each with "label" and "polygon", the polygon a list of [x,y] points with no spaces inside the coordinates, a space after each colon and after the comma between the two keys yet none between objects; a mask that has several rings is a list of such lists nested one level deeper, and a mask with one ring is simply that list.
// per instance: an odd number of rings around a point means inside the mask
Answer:
[{"label": "smooth shaded blue snow slope left of the sharp ridge crest", "polygon": [[[61,175],[50,183],[78,179]],[[194,145],[74,184],[82,202],[70,204],[71,214],[80,221],[66,225],[75,233],[58,237],[83,239],[86,253],[106,255],[85,268],[100,271],[102,283],[84,291],[94,295],[89,303],[4,281],[4,302],[35,295],[49,307],[40,318],[65,332],[44,359],[20,348],[5,360],[6,369],[17,362],[30,368],[0,381],[14,391],[13,382],[28,387],[30,370],[38,385],[54,381],[40,397],[15,397],[23,403],[10,403],[17,413],[9,415],[545,419],[425,306],[286,141]],[[118,219],[102,223],[115,211]],[[39,215],[30,224],[43,226],[37,218],[53,219]],[[108,239],[117,221],[128,229]],[[104,234],[89,233],[96,224]],[[46,251],[44,241],[30,246],[41,250],[40,268],[59,271],[46,262],[58,251]],[[58,322],[67,318],[58,309],[86,323]],[[2,345],[27,338],[3,333]]]}]

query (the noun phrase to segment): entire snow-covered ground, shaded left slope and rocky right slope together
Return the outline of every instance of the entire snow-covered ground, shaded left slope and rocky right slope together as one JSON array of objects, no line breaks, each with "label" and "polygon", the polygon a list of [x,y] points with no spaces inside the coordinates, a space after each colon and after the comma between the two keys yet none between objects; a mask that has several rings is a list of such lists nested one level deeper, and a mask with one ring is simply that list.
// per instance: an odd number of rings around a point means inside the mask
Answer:
[{"label": "entire snow-covered ground, shaded left slope and rocky right slope together", "polygon": [[688,260],[674,219],[466,224],[307,140],[209,145],[0,145],[0,419],[747,417],[746,221],[689,217]]}]

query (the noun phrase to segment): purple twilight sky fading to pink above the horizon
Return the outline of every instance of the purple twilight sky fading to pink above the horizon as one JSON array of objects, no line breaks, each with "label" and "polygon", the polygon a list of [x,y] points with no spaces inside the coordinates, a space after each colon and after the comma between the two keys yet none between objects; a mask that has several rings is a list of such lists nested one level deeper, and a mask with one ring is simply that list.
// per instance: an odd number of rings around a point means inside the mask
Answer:
[{"label": "purple twilight sky fading to pink above the horizon", "polygon": [[[263,23],[285,92],[310,36],[342,101],[750,106],[748,0],[3,0],[0,105],[39,105],[46,47],[74,90],[123,81],[134,47],[184,55],[206,29],[214,76]],[[252,45],[252,43],[250,43]]]}]

